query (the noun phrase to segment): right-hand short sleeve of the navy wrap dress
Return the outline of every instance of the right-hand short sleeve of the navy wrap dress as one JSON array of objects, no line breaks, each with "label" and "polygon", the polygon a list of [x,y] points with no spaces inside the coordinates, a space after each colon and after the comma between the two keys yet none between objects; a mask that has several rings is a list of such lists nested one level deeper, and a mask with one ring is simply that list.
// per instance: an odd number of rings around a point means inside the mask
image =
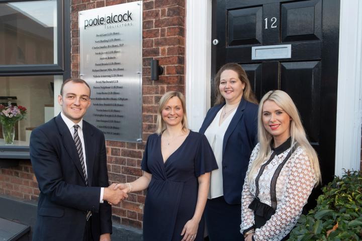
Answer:
[{"label": "right-hand short sleeve of the navy wrap dress", "polygon": [[195,176],[199,177],[207,172],[218,169],[214,152],[204,134],[200,134],[200,142],[195,155]]}]

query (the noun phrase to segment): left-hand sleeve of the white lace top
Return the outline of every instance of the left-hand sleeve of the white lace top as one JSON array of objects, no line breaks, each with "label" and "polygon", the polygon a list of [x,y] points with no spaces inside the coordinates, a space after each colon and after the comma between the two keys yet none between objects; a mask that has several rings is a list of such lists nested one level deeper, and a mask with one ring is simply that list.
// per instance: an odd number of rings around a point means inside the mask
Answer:
[{"label": "left-hand sleeve of the white lace top", "polygon": [[241,224],[240,232],[245,233],[254,226],[254,212],[249,208],[254,199],[254,194],[250,190],[249,173],[251,164],[259,153],[259,144],[257,144],[251,153],[248,170],[245,175],[243,190],[241,194]]}]

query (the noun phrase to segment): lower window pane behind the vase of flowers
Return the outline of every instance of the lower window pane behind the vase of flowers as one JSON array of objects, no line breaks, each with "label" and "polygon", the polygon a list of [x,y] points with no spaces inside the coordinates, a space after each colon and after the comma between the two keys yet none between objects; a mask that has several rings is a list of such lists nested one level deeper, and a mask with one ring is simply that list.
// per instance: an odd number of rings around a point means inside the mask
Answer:
[{"label": "lower window pane behind the vase of flowers", "polygon": [[[18,122],[15,140],[29,143],[31,131],[54,117],[54,80],[58,82],[57,78],[59,77],[0,77],[0,103],[7,104],[8,101],[11,101],[26,107],[28,110],[26,119]],[[57,96],[59,91],[55,91]],[[0,131],[0,138],[3,138],[2,131]]]}]

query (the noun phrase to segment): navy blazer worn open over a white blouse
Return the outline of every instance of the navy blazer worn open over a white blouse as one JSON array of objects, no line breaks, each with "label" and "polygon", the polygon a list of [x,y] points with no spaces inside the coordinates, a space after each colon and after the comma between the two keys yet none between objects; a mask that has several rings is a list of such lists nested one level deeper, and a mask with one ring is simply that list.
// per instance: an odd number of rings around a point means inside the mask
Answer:
[{"label": "navy blazer worn open over a white blouse", "polygon": [[[209,109],[200,133],[205,134],[206,129],[224,105],[225,103],[218,104]],[[241,203],[241,191],[250,155],[257,144],[257,110],[258,105],[242,98],[224,135],[223,191],[225,201],[229,204]]]}]

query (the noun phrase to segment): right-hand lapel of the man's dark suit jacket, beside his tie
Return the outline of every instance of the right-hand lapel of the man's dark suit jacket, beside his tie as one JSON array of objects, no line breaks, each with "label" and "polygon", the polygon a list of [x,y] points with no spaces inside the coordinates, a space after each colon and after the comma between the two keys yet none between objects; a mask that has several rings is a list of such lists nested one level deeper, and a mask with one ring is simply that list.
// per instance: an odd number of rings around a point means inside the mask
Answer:
[{"label": "right-hand lapel of the man's dark suit jacket, beside his tie", "polygon": [[89,124],[84,121],[83,121],[82,131],[83,131],[84,146],[85,146],[85,157],[86,157],[85,161],[87,164],[88,184],[91,185],[93,178],[96,147],[94,146],[94,142],[92,141],[93,132],[91,132]]}]

